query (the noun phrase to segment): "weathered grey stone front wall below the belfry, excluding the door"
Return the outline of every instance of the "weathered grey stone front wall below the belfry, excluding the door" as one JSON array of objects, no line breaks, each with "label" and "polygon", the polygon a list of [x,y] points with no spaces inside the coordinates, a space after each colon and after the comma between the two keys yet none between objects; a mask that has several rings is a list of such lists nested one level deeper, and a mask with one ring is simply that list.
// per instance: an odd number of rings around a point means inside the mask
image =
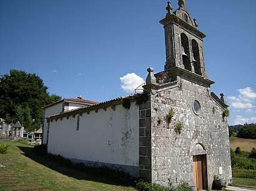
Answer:
[{"label": "weathered grey stone front wall below the belfry, excluding the door", "polygon": [[[206,154],[207,180],[214,175],[230,181],[230,147],[227,119],[210,97],[209,88],[181,79],[180,83],[151,91],[152,182],[161,185],[194,185],[193,156]],[[194,100],[200,111],[195,114]],[[169,122],[168,113],[174,116]],[[176,126],[182,124],[179,133]],[[197,151],[200,144],[204,150]]]}]

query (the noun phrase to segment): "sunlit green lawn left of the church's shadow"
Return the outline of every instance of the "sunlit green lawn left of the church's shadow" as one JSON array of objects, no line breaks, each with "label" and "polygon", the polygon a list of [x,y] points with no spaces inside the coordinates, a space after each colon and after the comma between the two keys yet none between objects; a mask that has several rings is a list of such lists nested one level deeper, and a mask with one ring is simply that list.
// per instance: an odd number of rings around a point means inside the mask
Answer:
[{"label": "sunlit green lawn left of the church's shadow", "polygon": [[135,190],[112,180],[50,161],[20,142],[0,154],[0,190]]}]

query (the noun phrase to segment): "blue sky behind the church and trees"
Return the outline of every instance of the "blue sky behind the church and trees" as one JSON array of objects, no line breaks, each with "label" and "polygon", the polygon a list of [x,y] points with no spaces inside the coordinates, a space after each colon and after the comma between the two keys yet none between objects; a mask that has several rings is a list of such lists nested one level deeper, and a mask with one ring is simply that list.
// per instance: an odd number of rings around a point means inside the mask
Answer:
[{"label": "blue sky behind the church and trees", "polygon": [[[0,0],[0,74],[36,73],[62,98],[128,95],[129,82],[145,80],[148,67],[164,70],[159,21],[166,6],[167,0]],[[256,123],[255,8],[255,0],[187,0],[207,35],[206,70],[215,81],[211,90],[225,93],[229,124]]]}]

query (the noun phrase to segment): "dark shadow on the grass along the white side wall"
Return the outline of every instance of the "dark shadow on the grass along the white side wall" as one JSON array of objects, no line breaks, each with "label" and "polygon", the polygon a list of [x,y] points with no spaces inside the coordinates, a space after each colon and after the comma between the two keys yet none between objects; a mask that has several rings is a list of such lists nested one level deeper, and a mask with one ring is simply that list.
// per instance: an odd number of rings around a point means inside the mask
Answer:
[{"label": "dark shadow on the grass along the white side wall", "polygon": [[[107,178],[106,172],[104,174],[95,174],[93,171],[93,168],[88,168],[86,170],[78,170],[77,168],[72,167],[72,165],[65,165],[63,162],[58,162],[55,160],[51,160],[50,157],[47,156],[41,156],[33,151],[32,147],[26,147],[26,146],[17,146],[19,149],[21,149],[24,156],[29,157],[33,161],[42,164],[49,169],[55,170],[57,172],[60,172],[61,174],[67,175],[69,177],[73,177],[74,179],[78,180],[90,180],[94,182],[102,182],[104,184],[111,184],[111,185],[121,185],[121,186],[131,186],[134,187],[134,182],[120,182],[118,180],[111,180]],[[111,171],[110,171],[111,172]]]}]

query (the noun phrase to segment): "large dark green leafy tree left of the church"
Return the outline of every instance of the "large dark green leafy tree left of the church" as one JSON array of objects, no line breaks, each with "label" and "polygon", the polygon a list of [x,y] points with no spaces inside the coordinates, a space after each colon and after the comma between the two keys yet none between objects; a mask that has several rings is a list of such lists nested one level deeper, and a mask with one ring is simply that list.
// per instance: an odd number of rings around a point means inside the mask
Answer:
[{"label": "large dark green leafy tree left of the church", "polygon": [[19,121],[26,129],[39,128],[42,106],[61,100],[60,96],[49,95],[47,86],[35,73],[10,70],[0,78],[0,116],[7,123]]}]

